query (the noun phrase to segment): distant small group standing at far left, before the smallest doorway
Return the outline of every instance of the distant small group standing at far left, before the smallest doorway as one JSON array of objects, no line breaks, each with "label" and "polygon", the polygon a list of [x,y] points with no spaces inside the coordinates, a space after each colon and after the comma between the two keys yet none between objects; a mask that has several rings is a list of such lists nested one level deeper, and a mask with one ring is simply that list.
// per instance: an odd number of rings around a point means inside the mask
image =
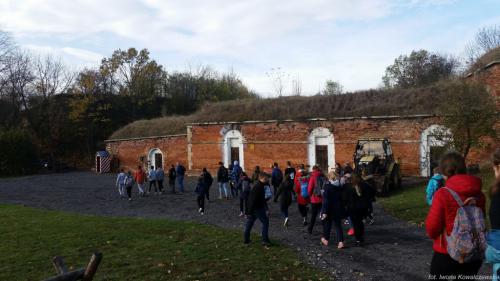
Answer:
[{"label": "distant small group standing at far left, before the smallest doorway", "polygon": [[[137,186],[139,196],[141,197],[146,197],[149,194],[161,195],[166,192],[163,184],[165,176],[167,176],[170,192],[176,193],[175,187],[177,184],[179,192],[183,193],[185,174],[186,168],[181,163],[177,163],[176,166],[172,165],[167,175],[165,175],[165,171],[161,166],[156,168],[151,166],[147,173],[142,166],[138,166],[137,170],[133,173],[132,171],[125,172],[124,169],[121,169],[116,177],[116,187],[118,188],[120,197],[125,197],[126,194],[129,201],[132,200],[132,187],[134,184]],[[146,188],[146,185],[148,185],[148,188]]]}]

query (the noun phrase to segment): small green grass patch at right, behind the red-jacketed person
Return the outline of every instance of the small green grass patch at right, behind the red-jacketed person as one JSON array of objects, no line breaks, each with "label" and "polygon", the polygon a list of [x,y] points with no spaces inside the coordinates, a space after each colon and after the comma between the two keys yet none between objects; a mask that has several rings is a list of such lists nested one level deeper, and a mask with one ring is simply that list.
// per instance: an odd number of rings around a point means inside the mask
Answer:
[{"label": "small green grass patch at right, behind the red-jacketed person", "polygon": [[[488,190],[493,184],[494,175],[490,170],[479,174],[483,181],[483,192],[486,195],[486,210],[489,209]],[[424,225],[429,206],[425,201],[427,183],[416,184],[398,190],[388,197],[379,198],[378,202],[391,215],[419,226]]]}]

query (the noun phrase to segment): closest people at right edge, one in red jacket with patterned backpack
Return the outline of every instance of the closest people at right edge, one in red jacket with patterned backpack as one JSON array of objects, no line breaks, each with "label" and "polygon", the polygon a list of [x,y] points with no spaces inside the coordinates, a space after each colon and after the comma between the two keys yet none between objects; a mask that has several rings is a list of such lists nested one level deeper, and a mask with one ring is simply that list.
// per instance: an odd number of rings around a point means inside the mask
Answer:
[{"label": "closest people at right edge, one in red jacket with patterned backpack", "polygon": [[434,170],[426,190],[430,209],[425,227],[434,241],[430,278],[475,280],[486,261],[493,264],[492,280],[499,280],[500,149],[492,158],[495,183],[489,190],[489,232],[481,179],[467,173],[464,158],[458,153],[447,153]]}]

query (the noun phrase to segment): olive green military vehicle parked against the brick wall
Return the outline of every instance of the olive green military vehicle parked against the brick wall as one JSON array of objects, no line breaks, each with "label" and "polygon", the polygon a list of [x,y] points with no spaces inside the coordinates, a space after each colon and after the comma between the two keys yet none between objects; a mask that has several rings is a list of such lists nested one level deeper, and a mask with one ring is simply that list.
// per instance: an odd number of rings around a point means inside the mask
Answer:
[{"label": "olive green military vehicle parked against the brick wall", "polygon": [[391,143],[387,138],[362,138],[354,152],[354,170],[365,173],[376,183],[378,195],[387,195],[401,187],[401,171],[394,159]]}]

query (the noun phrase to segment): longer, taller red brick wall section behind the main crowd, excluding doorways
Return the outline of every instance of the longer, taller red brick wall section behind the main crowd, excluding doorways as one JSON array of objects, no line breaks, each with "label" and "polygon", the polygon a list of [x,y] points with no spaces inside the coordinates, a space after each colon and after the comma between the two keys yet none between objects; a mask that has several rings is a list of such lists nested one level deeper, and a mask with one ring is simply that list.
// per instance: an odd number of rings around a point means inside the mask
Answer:
[{"label": "longer, taller red brick wall section behind the main crowd, excluding doorways", "polygon": [[435,123],[435,118],[401,118],[196,125],[191,127],[191,168],[217,168],[217,162],[223,157],[220,132],[224,126],[241,131],[247,171],[256,165],[267,168],[273,162],[285,166],[287,160],[307,164],[309,134],[314,128],[325,127],[334,135],[336,162],[352,162],[355,143],[360,137],[388,137],[395,157],[400,159],[403,174],[418,175],[420,134]]}]

